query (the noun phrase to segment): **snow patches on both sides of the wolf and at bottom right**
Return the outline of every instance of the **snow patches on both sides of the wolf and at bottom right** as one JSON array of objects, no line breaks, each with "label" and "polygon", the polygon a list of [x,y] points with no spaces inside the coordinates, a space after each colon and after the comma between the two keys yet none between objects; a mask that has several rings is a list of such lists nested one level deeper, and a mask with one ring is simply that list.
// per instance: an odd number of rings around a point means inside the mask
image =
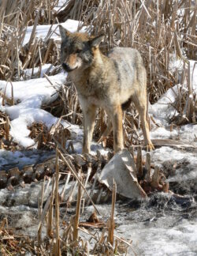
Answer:
[{"label": "snow patches on both sides of the wolf and at bottom right", "polygon": [[[61,5],[60,5],[61,6]],[[76,31],[78,27],[78,21],[68,20],[64,24],[64,27],[69,29],[71,32]],[[46,37],[50,25],[39,25],[36,28],[36,34],[43,39]],[[51,36],[55,40],[60,40],[57,24],[52,28],[53,35]],[[24,43],[28,43],[32,32],[32,27],[28,27],[26,36],[24,38]],[[192,73],[192,87],[197,90],[197,65],[195,62],[191,61],[191,73]],[[49,66],[43,66],[44,70],[47,70]],[[27,74],[31,75],[31,70],[27,70]],[[35,70],[36,72],[36,70]],[[24,148],[34,145],[34,141],[28,137],[30,131],[28,126],[32,122],[44,122],[46,126],[50,127],[58,119],[55,118],[50,113],[42,110],[40,107],[43,103],[52,102],[55,97],[58,96],[57,90],[65,82],[66,74],[58,73],[55,76],[50,76],[50,81],[54,86],[50,85],[50,82],[43,77],[36,78],[28,81],[18,81],[13,82],[13,98],[15,101],[14,106],[2,106],[2,99],[0,99],[0,110],[5,111],[9,118],[11,119],[11,130],[10,134],[13,139]],[[176,127],[172,131],[169,130],[169,124],[167,118],[176,114],[176,110],[172,107],[172,103],[176,100],[178,86],[170,88],[161,97],[160,100],[149,108],[150,115],[153,115],[154,120],[158,122],[161,127],[154,126],[151,130],[151,138],[177,138],[181,141],[185,141],[193,146],[196,146],[196,136],[197,136],[197,125],[188,124],[182,126],[180,130]],[[6,96],[11,96],[11,85],[6,81],[0,81],[0,89],[6,92]],[[73,134],[78,135],[76,139],[75,149],[76,152],[81,151],[81,138],[83,135],[82,130],[79,126],[72,126],[69,122],[63,123],[65,127],[69,127],[69,130]],[[96,143],[92,144],[92,150],[95,152],[100,146]],[[35,155],[27,155],[25,152],[6,152],[5,150],[0,150],[0,170],[5,164],[16,164],[20,162],[20,166],[24,164],[34,164],[38,160],[38,152]],[[188,174],[184,173],[184,170],[180,171],[175,177],[169,179],[174,181],[177,179],[191,179],[197,178],[197,156],[195,152],[181,152],[178,149],[172,149],[169,147],[161,147],[151,152],[151,159],[154,160],[156,164],[162,164],[166,160],[181,160],[186,158],[191,164],[191,171]],[[152,213],[153,214],[153,213]],[[154,217],[154,214],[153,216]],[[196,233],[196,220],[177,220],[176,217],[172,217],[173,220],[170,222],[172,228],[168,225],[164,226],[165,220],[169,218],[169,215],[162,218],[158,218],[158,223],[154,221],[148,221],[147,226],[142,221],[132,222],[125,216],[121,215],[119,218],[117,214],[117,223],[120,226],[117,228],[117,233],[122,235],[124,238],[133,239],[133,246],[137,248],[136,250],[141,255],[196,255],[197,251],[195,245],[197,244],[197,233]],[[140,216],[139,216],[140,219]],[[168,222],[169,223],[169,222]]]}]

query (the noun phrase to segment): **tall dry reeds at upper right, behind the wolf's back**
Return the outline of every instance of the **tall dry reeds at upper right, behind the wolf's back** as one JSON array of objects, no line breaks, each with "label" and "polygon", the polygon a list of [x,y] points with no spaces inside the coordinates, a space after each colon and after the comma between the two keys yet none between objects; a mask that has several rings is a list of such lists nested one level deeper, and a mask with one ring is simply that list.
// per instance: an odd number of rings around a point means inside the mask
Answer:
[{"label": "tall dry reeds at upper right, behind the wolf's back", "polygon": [[[89,25],[91,34],[106,35],[103,51],[114,46],[134,47],[140,51],[147,66],[151,103],[173,85],[186,83],[187,99],[184,102],[182,99],[178,111],[188,119],[184,121],[195,122],[196,92],[192,90],[187,59],[197,59],[196,2],[109,0],[99,5],[93,2],[86,6],[87,15],[82,20]],[[173,69],[173,58],[182,60],[180,70]]]}]

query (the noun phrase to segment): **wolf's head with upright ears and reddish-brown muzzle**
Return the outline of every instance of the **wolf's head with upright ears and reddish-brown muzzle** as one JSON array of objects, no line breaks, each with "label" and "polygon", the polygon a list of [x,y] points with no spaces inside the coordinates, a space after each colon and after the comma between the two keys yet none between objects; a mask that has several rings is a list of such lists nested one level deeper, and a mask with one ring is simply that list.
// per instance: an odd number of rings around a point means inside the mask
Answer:
[{"label": "wolf's head with upright ears and reddish-brown muzzle", "polygon": [[72,33],[61,25],[61,65],[66,72],[86,69],[94,61],[95,52],[104,36],[91,38],[87,33]]}]

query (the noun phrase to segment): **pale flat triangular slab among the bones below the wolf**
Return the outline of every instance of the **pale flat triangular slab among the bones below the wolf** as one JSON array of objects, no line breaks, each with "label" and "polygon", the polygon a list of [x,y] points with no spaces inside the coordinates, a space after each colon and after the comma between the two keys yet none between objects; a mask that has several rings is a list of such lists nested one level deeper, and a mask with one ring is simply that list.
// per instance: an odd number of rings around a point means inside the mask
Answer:
[{"label": "pale flat triangular slab among the bones below the wolf", "polygon": [[147,198],[137,181],[136,165],[127,149],[117,152],[99,175],[99,182],[110,190],[113,188],[113,179],[117,183],[117,194],[126,198]]}]

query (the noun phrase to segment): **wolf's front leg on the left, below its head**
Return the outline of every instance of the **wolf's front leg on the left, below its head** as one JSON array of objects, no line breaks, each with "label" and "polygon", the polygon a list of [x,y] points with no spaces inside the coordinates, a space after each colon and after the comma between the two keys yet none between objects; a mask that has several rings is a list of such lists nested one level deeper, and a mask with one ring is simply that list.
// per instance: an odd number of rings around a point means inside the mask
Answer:
[{"label": "wolf's front leg on the left, below its head", "polygon": [[84,141],[82,153],[91,151],[91,139],[95,127],[96,107],[95,105],[83,106],[84,114]]}]

